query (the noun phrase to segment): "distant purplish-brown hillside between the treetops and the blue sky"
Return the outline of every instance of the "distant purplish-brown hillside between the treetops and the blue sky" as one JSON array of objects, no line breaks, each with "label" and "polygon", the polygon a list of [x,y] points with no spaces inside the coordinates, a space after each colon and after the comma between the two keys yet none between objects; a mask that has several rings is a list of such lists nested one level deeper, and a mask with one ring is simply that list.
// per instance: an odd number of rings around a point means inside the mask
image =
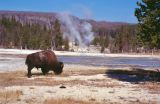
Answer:
[{"label": "distant purplish-brown hillside between the treetops and the blue sky", "polygon": [[[17,21],[21,23],[38,23],[41,25],[50,25],[51,22],[55,21],[57,18],[57,13],[44,13],[44,12],[24,12],[24,11],[0,11],[0,18],[7,17],[12,18],[15,17]],[[83,20],[78,17],[72,16],[74,19],[78,21],[87,21],[89,22],[93,28],[105,28],[105,29],[113,29],[120,27],[122,25],[126,25],[128,23],[123,22],[107,22],[107,21],[95,21],[95,20]]]}]

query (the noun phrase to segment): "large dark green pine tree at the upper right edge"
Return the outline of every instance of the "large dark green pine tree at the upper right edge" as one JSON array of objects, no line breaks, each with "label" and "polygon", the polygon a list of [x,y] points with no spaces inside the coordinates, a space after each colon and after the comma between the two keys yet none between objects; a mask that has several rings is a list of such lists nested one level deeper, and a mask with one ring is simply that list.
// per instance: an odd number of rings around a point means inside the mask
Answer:
[{"label": "large dark green pine tree at the upper right edge", "polygon": [[138,38],[146,48],[160,49],[160,0],[142,0],[135,9]]}]

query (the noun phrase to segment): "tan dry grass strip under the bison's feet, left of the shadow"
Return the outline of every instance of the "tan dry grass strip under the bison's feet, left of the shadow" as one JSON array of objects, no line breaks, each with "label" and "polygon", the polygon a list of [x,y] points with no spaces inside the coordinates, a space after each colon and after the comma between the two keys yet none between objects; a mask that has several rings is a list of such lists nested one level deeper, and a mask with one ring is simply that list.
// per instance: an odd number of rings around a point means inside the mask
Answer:
[{"label": "tan dry grass strip under the bison's feet, left of the shadow", "polygon": [[55,76],[53,72],[48,73],[46,76],[43,76],[42,73],[39,71],[33,72],[32,78],[27,78],[26,71],[13,71],[13,72],[2,72],[0,73],[0,86],[14,86],[14,85],[21,85],[21,86],[54,86],[59,84],[78,84],[81,83],[83,85],[88,85],[85,81],[80,80],[55,80],[54,77],[68,77],[72,75],[96,75],[96,74],[104,74],[105,70],[69,70],[64,71],[61,75]]}]

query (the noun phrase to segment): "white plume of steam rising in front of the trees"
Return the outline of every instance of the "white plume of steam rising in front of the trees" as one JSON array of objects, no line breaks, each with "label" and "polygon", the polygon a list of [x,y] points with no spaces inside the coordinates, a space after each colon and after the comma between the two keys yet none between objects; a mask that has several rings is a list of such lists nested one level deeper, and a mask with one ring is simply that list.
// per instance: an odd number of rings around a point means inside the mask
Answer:
[{"label": "white plume of steam rising in front of the trees", "polygon": [[92,26],[88,22],[79,21],[69,13],[60,13],[57,18],[65,26],[63,37],[70,42],[77,42],[80,47],[86,47],[94,39]]}]

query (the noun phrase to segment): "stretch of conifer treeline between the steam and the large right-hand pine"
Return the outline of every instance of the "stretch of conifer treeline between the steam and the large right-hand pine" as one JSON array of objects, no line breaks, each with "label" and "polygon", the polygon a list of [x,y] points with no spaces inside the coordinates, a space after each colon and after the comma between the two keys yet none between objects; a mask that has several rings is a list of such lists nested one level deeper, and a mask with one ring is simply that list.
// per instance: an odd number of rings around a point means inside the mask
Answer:
[{"label": "stretch of conifer treeline between the steam and the large right-hand pine", "polygon": [[108,48],[112,53],[138,52],[136,25],[122,25],[117,29],[95,29],[93,44],[101,46],[101,52]]}]

